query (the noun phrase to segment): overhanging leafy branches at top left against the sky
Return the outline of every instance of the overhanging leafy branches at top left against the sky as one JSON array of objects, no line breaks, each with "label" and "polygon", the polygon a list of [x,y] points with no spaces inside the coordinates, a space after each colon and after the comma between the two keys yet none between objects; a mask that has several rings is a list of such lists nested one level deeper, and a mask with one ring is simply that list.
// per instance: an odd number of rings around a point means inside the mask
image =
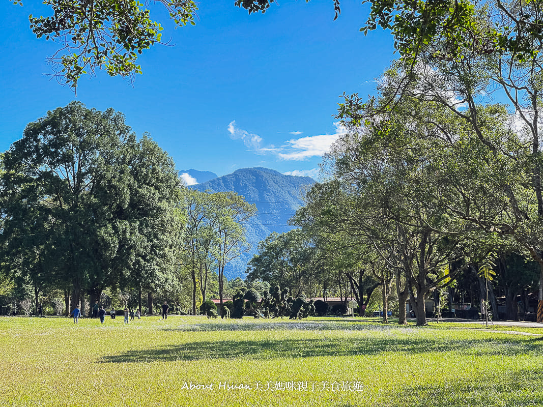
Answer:
[{"label": "overhanging leafy branches at top left against the sky", "polygon": [[[21,3],[15,2],[15,3]],[[198,5],[192,0],[159,0],[176,26],[194,25]],[[46,0],[53,15],[30,15],[30,29],[37,38],[59,43],[48,58],[54,77],[77,88],[83,74],[105,68],[111,76],[131,77],[142,73],[138,54],[161,42],[162,26],[150,17],[150,10],[137,0],[103,2]]]}]

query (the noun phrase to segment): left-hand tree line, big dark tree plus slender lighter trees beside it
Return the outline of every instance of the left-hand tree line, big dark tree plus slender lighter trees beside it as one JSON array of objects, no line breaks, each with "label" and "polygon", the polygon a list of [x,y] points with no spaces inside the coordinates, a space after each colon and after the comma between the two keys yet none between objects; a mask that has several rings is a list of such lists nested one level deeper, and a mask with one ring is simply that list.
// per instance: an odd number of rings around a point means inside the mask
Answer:
[{"label": "left-hand tree line, big dark tree plus slender lighter trees beside it", "polygon": [[[2,295],[11,308],[29,294],[64,298],[68,313],[104,292],[192,292],[192,313],[211,281],[248,249],[243,222],[256,207],[233,192],[180,182],[171,157],[140,139],[121,113],[72,102],[28,124],[2,155]],[[213,275],[217,274],[217,277]],[[123,296],[121,295],[121,296]],[[4,310],[5,311],[5,310]]]}]

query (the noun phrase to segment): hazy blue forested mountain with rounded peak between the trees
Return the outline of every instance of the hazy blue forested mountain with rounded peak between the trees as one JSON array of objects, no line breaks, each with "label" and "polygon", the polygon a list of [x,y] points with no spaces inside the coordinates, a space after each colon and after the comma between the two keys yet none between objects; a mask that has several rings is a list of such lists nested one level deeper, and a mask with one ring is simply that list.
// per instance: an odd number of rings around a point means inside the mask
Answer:
[{"label": "hazy blue forested mountain with rounded peak between the trees", "polygon": [[315,181],[310,177],[283,175],[268,168],[243,168],[191,188],[210,192],[233,191],[255,203],[258,213],[247,224],[247,240],[251,250],[225,269],[228,279],[245,278],[247,262],[256,253],[258,242],[271,232],[283,233],[293,227],[287,224],[296,209],[303,205],[304,191]]}]

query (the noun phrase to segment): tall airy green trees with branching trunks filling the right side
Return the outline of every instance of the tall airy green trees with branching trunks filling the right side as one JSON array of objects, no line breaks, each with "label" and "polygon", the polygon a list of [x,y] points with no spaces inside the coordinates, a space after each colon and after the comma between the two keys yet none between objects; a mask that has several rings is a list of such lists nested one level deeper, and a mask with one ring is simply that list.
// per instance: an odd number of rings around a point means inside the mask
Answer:
[{"label": "tall airy green trees with branching trunks filling the right side", "polygon": [[539,286],[543,321],[541,2],[371,3],[363,30],[390,30],[400,58],[374,96],[344,94],[348,134],[294,224],[358,301],[364,276],[385,308],[395,286],[400,323],[407,298],[424,325],[427,298],[467,281],[484,314],[500,284],[509,319]]}]

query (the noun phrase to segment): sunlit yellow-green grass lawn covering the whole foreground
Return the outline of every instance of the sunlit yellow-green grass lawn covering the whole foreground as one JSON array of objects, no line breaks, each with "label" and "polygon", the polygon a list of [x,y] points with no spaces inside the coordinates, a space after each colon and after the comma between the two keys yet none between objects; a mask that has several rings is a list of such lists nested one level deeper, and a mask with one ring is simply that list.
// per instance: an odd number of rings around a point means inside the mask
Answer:
[{"label": "sunlit yellow-green grass lawn covering the whole foreground", "polygon": [[0,406],[543,406],[539,330],[495,330],[1,317]]}]

